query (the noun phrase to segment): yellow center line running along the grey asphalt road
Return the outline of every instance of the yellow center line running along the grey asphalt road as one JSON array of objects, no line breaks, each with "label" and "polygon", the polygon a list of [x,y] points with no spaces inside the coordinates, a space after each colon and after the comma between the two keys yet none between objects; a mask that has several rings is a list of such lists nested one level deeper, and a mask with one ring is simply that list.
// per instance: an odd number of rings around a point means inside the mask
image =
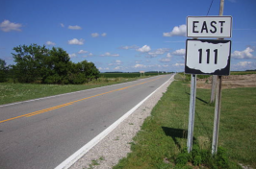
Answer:
[{"label": "yellow center line running along the grey asphalt road", "polygon": [[[162,78],[162,77],[160,77],[160,78]],[[4,122],[11,121],[11,120],[14,120],[14,119],[17,119],[17,118],[21,118],[21,117],[31,117],[31,116],[34,116],[34,115],[37,115],[37,114],[40,114],[40,113],[43,113],[43,112],[47,112],[47,111],[50,111],[50,110],[54,110],[54,109],[64,108],[64,107],[73,105],[74,103],[77,103],[77,102],[81,102],[81,101],[84,101],[84,100],[87,100],[87,99],[90,99],[90,98],[93,98],[93,97],[97,97],[97,96],[102,96],[104,94],[112,93],[112,92],[115,92],[115,91],[124,90],[124,89],[130,88],[132,86],[146,84],[146,83],[149,83],[149,82],[152,82],[152,81],[156,81],[156,80],[158,80],[160,78],[156,78],[156,79],[153,79],[153,80],[150,80],[150,81],[147,81],[147,82],[144,82],[144,83],[140,83],[140,84],[128,85],[128,86],[125,86],[125,87],[122,87],[122,88],[118,88],[118,89],[111,90],[111,91],[108,91],[108,92],[105,92],[105,93],[100,93],[100,94],[97,94],[97,95],[94,95],[94,96],[86,97],[86,98],[79,99],[79,100],[76,100],[76,101],[73,101],[73,102],[68,102],[68,103],[65,103],[63,105],[58,105],[58,106],[51,107],[51,108],[48,108],[48,109],[37,110],[37,111],[30,112],[30,113],[27,113],[27,114],[24,114],[24,115],[20,115],[20,116],[16,116],[16,117],[13,117],[13,118],[9,118],[9,119],[0,121],[0,123],[4,123]]]}]

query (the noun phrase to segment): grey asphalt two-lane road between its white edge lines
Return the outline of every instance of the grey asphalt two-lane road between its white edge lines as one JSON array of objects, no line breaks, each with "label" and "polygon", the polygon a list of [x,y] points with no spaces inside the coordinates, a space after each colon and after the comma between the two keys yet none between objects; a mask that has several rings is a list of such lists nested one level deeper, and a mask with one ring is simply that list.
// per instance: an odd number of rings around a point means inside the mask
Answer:
[{"label": "grey asphalt two-lane road between its white edge lines", "polygon": [[0,106],[0,168],[55,168],[170,77]]}]

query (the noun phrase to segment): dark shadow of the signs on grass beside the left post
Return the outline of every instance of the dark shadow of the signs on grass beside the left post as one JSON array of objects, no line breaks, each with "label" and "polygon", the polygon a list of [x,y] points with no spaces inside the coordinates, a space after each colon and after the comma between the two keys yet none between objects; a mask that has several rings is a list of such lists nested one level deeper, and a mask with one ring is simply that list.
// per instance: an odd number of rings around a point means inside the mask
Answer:
[{"label": "dark shadow of the signs on grass beside the left post", "polygon": [[[167,127],[162,127],[162,129],[167,136],[170,136],[173,139],[174,143],[181,150],[182,147],[180,145],[180,142],[177,140],[177,138],[187,138],[188,131],[183,129],[174,129],[174,128],[167,128]],[[195,140],[194,137],[192,139]]]}]

